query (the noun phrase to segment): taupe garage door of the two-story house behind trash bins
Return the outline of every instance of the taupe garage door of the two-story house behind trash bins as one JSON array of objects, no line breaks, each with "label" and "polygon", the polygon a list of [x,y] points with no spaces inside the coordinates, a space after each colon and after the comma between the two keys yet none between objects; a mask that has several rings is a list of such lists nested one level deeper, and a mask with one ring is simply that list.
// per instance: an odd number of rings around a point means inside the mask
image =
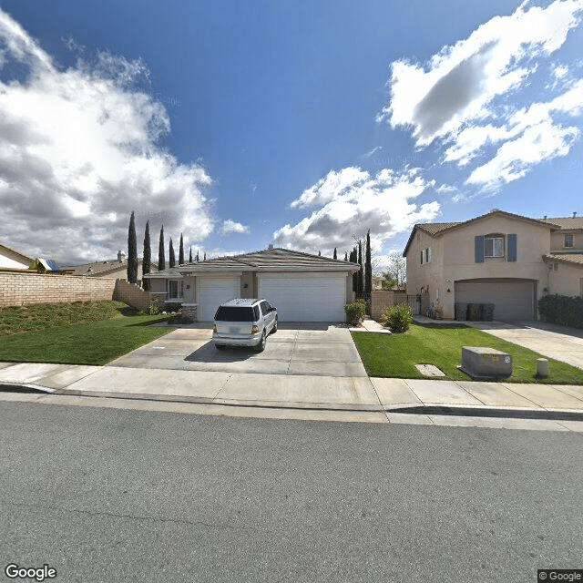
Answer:
[{"label": "taupe garage door of the two-story house behind trash bins", "polygon": [[493,303],[495,320],[533,320],[535,292],[530,280],[455,281],[455,302]]}]

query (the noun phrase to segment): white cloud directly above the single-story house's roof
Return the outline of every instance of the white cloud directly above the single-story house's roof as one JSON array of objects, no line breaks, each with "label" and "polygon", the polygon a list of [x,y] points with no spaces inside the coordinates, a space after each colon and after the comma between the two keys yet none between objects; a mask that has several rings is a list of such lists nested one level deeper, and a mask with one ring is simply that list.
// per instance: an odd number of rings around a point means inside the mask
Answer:
[{"label": "white cloud directly above the single-story house's roof", "polygon": [[[333,184],[337,184],[336,190]],[[336,247],[343,254],[353,248],[354,237],[361,238],[370,229],[373,249],[380,250],[384,240],[408,230],[415,222],[435,219],[440,210],[438,202],[414,202],[434,185],[433,180],[420,176],[419,169],[383,169],[374,177],[355,168],[331,171],[292,202],[292,206],[302,203],[305,207],[310,200],[310,206],[320,209],[293,226],[287,224],[275,231],[273,240],[280,247],[326,255]]]}]

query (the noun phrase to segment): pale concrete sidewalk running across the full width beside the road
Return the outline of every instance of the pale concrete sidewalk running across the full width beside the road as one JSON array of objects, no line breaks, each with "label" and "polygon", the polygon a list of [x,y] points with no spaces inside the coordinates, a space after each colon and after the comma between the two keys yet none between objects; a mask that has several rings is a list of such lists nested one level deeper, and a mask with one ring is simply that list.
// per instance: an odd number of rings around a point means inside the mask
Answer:
[{"label": "pale concrete sidewalk running across the full width beside the road", "polygon": [[578,385],[0,363],[2,387],[51,394],[411,417],[450,414],[562,419],[583,431],[583,386]]}]

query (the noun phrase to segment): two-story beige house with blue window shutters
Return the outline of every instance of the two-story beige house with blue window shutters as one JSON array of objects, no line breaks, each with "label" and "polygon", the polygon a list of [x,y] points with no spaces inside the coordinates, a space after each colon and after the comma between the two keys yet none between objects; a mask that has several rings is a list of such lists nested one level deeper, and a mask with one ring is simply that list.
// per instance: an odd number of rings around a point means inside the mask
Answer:
[{"label": "two-story beige house with blue window shutters", "polygon": [[581,295],[583,219],[492,210],[417,224],[404,257],[407,293],[427,294],[429,310],[444,318],[465,319],[467,304],[494,304],[495,320],[532,320],[543,295]]}]

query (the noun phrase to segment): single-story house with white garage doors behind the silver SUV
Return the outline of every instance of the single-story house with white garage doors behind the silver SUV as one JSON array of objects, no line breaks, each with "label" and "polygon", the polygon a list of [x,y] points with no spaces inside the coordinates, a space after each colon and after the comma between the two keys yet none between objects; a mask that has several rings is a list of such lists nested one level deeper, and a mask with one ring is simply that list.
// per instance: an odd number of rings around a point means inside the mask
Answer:
[{"label": "single-story house with white garage doors behind the silver SUV", "polygon": [[199,322],[211,322],[220,303],[233,298],[268,300],[280,322],[344,322],[358,269],[348,261],[270,248],[185,263],[145,277],[154,296],[195,308]]}]

